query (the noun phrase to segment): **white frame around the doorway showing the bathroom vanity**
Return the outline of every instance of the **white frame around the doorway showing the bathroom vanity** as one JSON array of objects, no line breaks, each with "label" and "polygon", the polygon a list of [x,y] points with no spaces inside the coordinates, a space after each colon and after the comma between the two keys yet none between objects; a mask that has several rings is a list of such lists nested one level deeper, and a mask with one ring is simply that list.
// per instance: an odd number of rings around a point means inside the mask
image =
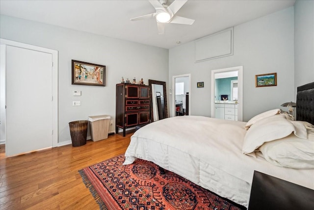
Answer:
[{"label": "white frame around the doorway showing the bathroom vanity", "polygon": [[210,116],[215,116],[215,73],[234,72],[237,71],[237,88],[238,88],[238,104],[237,113],[238,121],[243,121],[243,66],[235,66],[225,69],[211,70],[211,96],[210,96]]}]

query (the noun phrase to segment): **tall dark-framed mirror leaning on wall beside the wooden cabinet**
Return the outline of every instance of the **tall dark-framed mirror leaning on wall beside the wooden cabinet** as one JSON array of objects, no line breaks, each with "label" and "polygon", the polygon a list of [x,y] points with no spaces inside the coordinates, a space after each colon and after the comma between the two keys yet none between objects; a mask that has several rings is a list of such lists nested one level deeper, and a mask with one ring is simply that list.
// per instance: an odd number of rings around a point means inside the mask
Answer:
[{"label": "tall dark-framed mirror leaning on wall beside the wooden cabinet", "polygon": [[148,80],[151,89],[151,120],[152,122],[168,117],[166,82]]}]

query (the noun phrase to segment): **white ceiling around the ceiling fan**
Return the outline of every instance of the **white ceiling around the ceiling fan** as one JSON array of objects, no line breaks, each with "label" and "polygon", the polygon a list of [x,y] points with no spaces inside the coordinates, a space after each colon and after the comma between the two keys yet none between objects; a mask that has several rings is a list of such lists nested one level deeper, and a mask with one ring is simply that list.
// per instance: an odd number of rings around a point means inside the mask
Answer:
[{"label": "white ceiling around the ceiling fan", "polygon": [[0,0],[0,14],[171,49],[177,41],[184,44],[293,6],[294,2],[188,0],[177,15],[194,19],[194,24],[166,24],[162,35],[157,33],[155,19],[130,21],[155,12],[147,0]]}]

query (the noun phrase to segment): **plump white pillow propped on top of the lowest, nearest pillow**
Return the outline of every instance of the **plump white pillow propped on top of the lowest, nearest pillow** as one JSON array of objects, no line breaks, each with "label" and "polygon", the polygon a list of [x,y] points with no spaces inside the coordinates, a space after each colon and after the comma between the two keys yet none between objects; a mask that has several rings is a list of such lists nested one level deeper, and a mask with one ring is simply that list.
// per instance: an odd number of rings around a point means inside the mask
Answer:
[{"label": "plump white pillow propped on top of the lowest, nearest pillow", "polygon": [[284,138],[291,132],[300,138],[307,138],[307,131],[303,123],[292,123],[282,114],[266,117],[253,124],[246,132],[242,153],[254,156],[250,153],[256,151],[264,142]]}]

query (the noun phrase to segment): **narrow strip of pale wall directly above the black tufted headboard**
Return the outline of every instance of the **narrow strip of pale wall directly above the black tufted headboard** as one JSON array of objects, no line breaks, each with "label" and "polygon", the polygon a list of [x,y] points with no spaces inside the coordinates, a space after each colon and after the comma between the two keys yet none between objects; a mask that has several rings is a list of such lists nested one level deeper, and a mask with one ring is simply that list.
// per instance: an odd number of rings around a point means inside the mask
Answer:
[{"label": "narrow strip of pale wall directly above the black tufted headboard", "polygon": [[314,81],[314,1],[294,4],[294,85]]}]

